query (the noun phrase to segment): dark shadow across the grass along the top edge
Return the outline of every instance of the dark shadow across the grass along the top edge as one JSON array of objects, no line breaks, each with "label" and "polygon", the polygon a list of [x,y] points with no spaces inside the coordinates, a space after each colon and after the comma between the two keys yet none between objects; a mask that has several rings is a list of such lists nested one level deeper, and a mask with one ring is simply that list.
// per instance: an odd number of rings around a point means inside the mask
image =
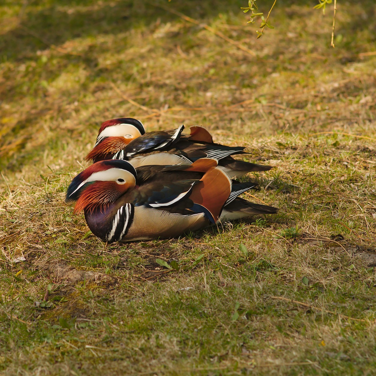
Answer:
[{"label": "dark shadow across the grass along the top edge", "polygon": [[[100,5],[101,3],[102,5]],[[271,0],[267,0],[263,2],[262,8],[268,9],[272,3]],[[309,8],[312,8],[315,3],[317,2],[311,0]],[[155,4],[158,5],[158,2]],[[245,0],[230,3],[226,0],[215,2],[191,0],[170,4],[161,1],[160,4],[167,5],[198,20],[216,16],[221,12],[237,13],[241,6],[247,5]],[[307,5],[307,1],[280,2],[279,8],[285,9],[290,17],[293,17],[294,13],[291,13],[290,10],[292,5]],[[74,6],[74,8],[70,8],[70,6]],[[371,20],[375,17],[376,9],[373,1],[362,2],[362,7],[368,19]],[[117,35],[132,28],[153,23],[158,18],[165,23],[175,20],[178,16],[141,0],[126,0],[117,3],[92,0],[55,0],[52,5],[39,11],[31,8],[24,12],[20,25],[0,36],[0,50],[3,59],[20,61],[32,57],[31,55],[38,50],[49,48],[52,45],[61,45],[74,38],[96,38],[100,34]],[[363,30],[364,26],[363,22],[353,19],[347,24],[346,29],[356,33]],[[368,27],[376,29],[373,23],[370,23]]]}]

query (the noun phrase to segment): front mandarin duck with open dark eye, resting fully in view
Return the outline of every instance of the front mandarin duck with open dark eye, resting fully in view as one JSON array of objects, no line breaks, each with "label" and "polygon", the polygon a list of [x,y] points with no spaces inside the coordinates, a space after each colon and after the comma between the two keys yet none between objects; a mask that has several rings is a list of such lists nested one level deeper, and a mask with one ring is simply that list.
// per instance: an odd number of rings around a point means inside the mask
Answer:
[{"label": "front mandarin duck with open dark eye, resting fully in view", "polygon": [[76,201],[94,235],[104,241],[179,237],[217,223],[277,209],[237,196],[254,183],[232,184],[203,158],[190,165],[141,166],[123,160],[96,162],[70,183],[66,202]]}]

